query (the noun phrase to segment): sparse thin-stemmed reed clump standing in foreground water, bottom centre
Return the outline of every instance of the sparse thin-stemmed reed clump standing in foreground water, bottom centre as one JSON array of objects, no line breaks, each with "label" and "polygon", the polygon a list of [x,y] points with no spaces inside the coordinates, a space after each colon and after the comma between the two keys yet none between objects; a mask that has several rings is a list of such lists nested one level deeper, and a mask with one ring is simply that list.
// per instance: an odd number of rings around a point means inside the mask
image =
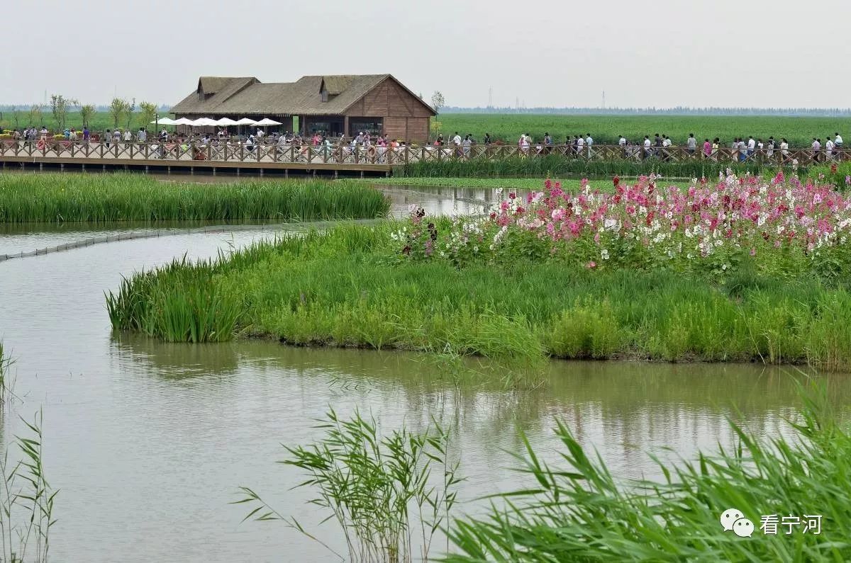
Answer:
[{"label": "sparse thin-stemmed reed clump standing in foreground water, bottom centre", "polygon": [[[330,409],[317,422],[323,438],[310,446],[284,446],[288,457],[281,463],[305,474],[299,486],[316,491],[308,503],[324,509],[327,520],[337,524],[346,537],[348,560],[428,560],[433,537],[448,523],[460,482],[457,463],[448,459],[448,433],[435,422],[422,433],[403,427],[381,435],[375,419],[357,411],[344,419]],[[245,520],[282,520],[320,541],[252,489],[243,486],[240,492],[236,503],[252,507]]]}]

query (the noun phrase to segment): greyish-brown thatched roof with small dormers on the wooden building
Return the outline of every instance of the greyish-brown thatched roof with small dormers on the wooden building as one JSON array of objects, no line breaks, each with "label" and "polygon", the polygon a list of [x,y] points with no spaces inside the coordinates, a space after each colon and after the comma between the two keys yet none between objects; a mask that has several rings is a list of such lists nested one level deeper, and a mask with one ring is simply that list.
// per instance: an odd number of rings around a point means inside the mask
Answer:
[{"label": "greyish-brown thatched roof with small dormers on the wooden building", "polygon": [[[297,82],[266,84],[254,77],[201,77],[196,91],[171,108],[171,113],[222,117],[340,115],[387,78],[405,88],[390,74],[312,76],[301,77]],[[330,94],[325,102],[323,88]],[[408,88],[405,90],[410,93]],[[204,100],[200,99],[200,92],[204,93]],[[433,112],[425,102],[414,98]]]}]

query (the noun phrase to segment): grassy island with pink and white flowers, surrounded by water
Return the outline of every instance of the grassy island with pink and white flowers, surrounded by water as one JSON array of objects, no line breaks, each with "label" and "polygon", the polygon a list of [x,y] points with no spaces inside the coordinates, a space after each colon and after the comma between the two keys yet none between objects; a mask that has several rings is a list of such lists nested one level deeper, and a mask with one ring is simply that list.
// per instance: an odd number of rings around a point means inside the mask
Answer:
[{"label": "grassy island with pink and white flowers, surrounded by water", "polygon": [[483,218],[413,208],[138,273],[111,321],[192,342],[851,367],[851,200],[830,185],[504,195]]}]

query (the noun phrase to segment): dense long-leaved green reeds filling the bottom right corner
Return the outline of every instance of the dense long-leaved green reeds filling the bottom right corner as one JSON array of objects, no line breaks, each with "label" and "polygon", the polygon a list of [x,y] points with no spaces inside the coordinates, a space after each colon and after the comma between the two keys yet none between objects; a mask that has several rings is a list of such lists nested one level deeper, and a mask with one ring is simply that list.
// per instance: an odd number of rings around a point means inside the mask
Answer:
[{"label": "dense long-leaved green reeds filling the bottom right corner", "polygon": [[[661,481],[620,483],[603,460],[557,421],[563,467],[551,467],[525,441],[518,470],[534,483],[499,495],[489,515],[449,528],[459,553],[446,560],[483,561],[847,561],[851,559],[851,435],[825,390],[808,395],[791,438],[757,440],[729,423],[738,444],[701,452],[671,467]],[[723,532],[736,509],[753,535]],[[764,535],[762,515],[820,515],[820,534],[796,526]]]}]

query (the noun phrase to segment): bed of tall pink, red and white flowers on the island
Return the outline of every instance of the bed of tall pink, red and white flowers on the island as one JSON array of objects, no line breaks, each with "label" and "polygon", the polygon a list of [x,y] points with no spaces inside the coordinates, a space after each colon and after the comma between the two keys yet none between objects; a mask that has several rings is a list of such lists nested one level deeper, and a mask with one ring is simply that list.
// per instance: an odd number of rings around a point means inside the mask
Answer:
[{"label": "bed of tall pink, red and white flowers on the island", "polygon": [[[409,259],[504,263],[520,257],[563,260],[588,269],[671,268],[725,276],[744,262],[780,275],[814,270],[839,276],[851,265],[851,198],[834,186],[778,173],[765,180],[694,180],[687,188],[654,176],[614,192],[578,193],[545,181],[525,198],[513,191],[483,218],[459,218],[438,236],[411,210],[395,235]],[[426,222],[427,223],[427,222]]]}]

